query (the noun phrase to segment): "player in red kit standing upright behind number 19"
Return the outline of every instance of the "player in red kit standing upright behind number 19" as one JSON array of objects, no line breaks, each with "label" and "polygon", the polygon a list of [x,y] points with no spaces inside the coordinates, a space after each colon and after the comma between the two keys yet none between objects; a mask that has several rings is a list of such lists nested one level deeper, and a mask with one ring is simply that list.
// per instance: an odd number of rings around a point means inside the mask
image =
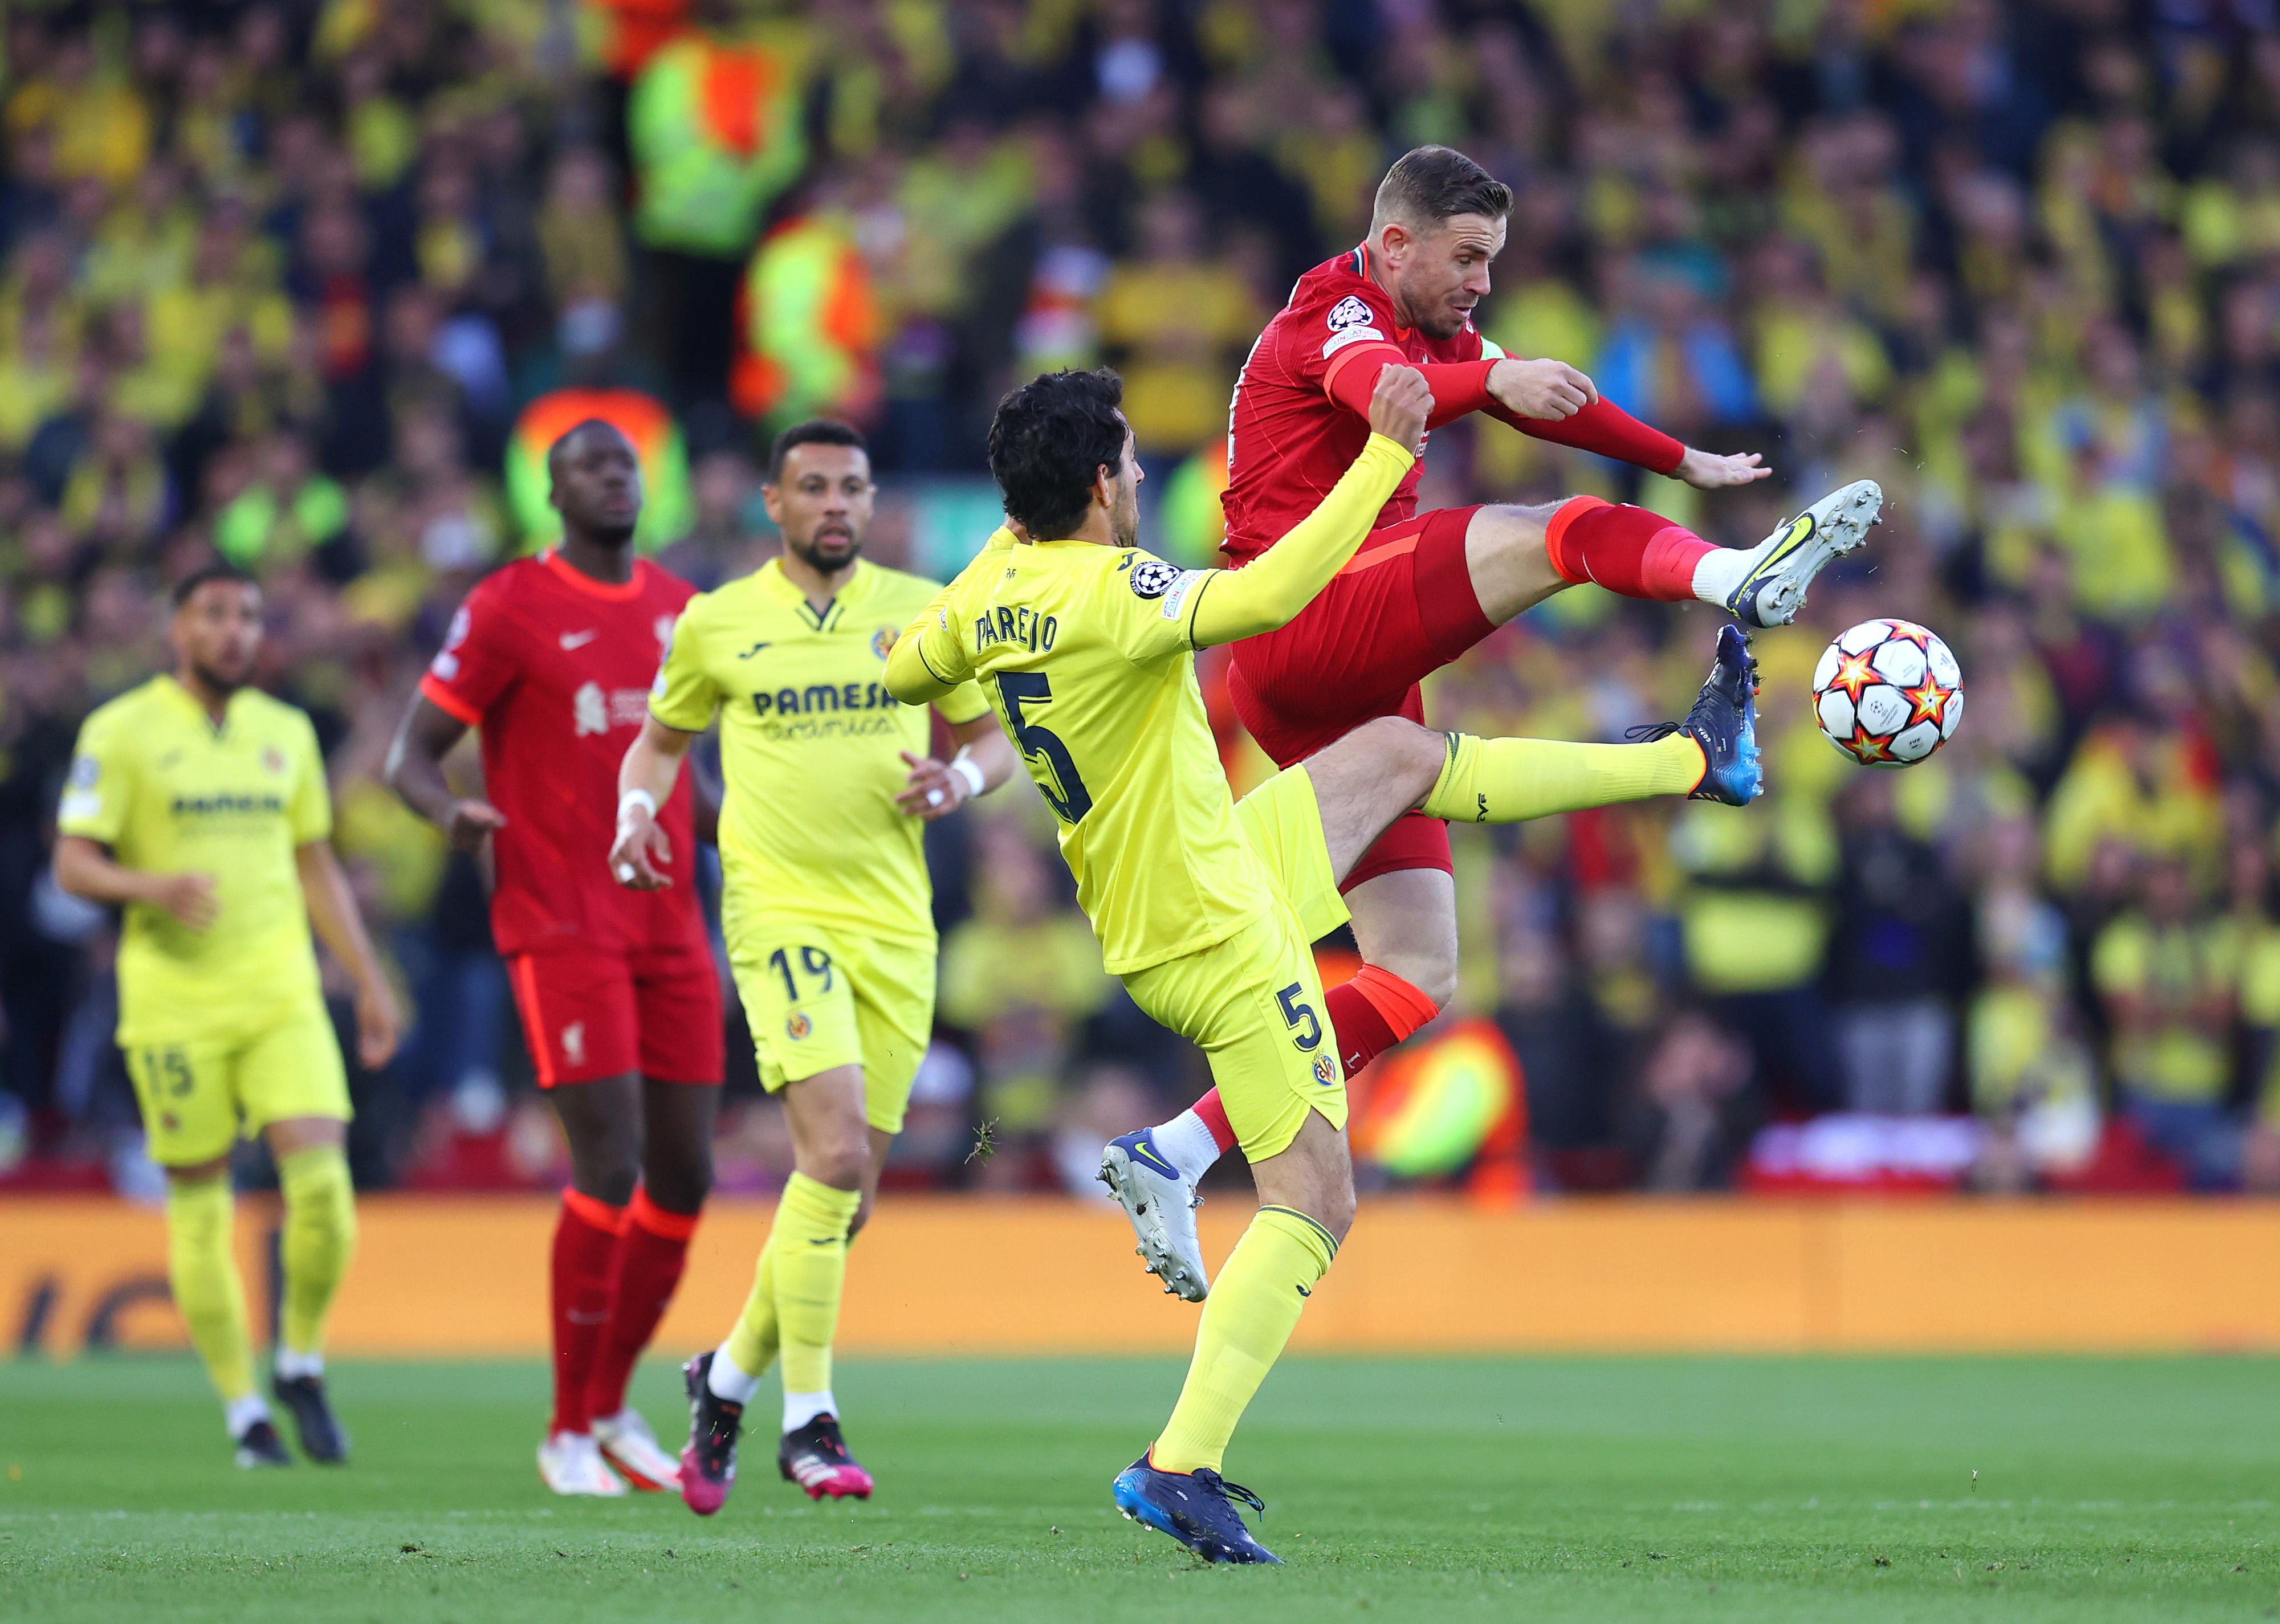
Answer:
[{"label": "player in red kit standing upright behind number 19", "polygon": [[[451,620],[390,755],[390,782],[461,848],[497,860],[490,931],[522,1033],[570,1140],[554,1229],[554,1421],[538,1471],[556,1494],[670,1489],[679,1467],[625,1403],[682,1277],[711,1188],[720,979],[693,885],[609,874],[618,762],[693,588],[634,557],[641,465],[606,422],[547,452],[561,545],[486,577]],[[442,757],[483,739],[488,801]],[[684,778],[652,807],[695,851]]]}]

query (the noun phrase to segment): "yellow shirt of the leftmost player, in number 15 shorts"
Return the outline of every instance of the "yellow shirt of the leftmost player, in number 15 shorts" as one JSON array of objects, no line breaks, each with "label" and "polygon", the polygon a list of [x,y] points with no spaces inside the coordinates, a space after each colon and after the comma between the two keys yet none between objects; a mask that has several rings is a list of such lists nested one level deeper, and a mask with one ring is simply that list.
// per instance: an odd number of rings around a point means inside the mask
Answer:
[{"label": "yellow shirt of the leftmost player, in number 15 shorts", "polygon": [[212,874],[203,935],[130,903],[119,942],[119,1042],[253,1033],[317,997],[301,846],[333,833],[317,734],[258,689],[221,728],[173,677],[150,677],[80,728],[57,830],[130,869]]}]

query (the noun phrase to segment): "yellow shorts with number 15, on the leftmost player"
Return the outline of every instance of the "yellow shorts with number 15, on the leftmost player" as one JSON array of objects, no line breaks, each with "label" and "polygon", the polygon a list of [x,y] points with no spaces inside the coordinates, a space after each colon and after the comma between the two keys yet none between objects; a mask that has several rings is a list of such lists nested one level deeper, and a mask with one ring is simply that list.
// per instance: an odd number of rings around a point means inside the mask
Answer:
[{"label": "yellow shorts with number 15, on the leftmost player", "polygon": [[317,1115],[347,1122],[349,1077],[321,1004],[246,1038],[119,1045],[141,1102],[150,1161],[196,1168],[239,1136]]}]

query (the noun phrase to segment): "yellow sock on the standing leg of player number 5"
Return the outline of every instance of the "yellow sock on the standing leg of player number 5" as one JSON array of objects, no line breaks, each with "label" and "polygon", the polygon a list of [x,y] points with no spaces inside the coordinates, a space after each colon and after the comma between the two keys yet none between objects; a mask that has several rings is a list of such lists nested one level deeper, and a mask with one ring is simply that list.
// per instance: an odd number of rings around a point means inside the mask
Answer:
[{"label": "yellow sock on the standing leg of player number 5", "polygon": [[1281,1357],[1306,1298],[1336,1254],[1329,1229],[1306,1213],[1259,1209],[1204,1302],[1188,1385],[1149,1451],[1161,1471],[1220,1469],[1236,1421]]}]

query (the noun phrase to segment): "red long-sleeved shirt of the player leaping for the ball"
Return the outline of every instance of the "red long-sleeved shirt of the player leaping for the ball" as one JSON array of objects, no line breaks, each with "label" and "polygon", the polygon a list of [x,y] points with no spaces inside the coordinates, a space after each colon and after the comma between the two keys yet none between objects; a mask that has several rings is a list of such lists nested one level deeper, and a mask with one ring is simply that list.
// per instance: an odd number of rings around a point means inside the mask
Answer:
[{"label": "red long-sleeved shirt of the player leaping for the ball", "polygon": [[[1347,249],[1306,271],[1290,290],[1290,303],[1275,312],[1252,344],[1227,422],[1227,557],[1249,563],[1286,536],[1329,495],[1370,438],[1370,422],[1354,406],[1332,397],[1345,388],[1341,374],[1363,367],[1473,365],[1464,390],[1434,385],[1432,424],[1466,411],[1484,411],[1539,440],[1617,456],[1655,472],[1671,472],[1685,445],[1598,399],[1566,420],[1521,417],[1487,395],[1480,333],[1466,322],[1455,338],[1427,338],[1393,317],[1393,297],[1370,274],[1361,249]],[[1368,388],[1354,395],[1366,397]],[[1400,525],[1416,513],[1423,458],[1409,470],[1370,529]]]}]

